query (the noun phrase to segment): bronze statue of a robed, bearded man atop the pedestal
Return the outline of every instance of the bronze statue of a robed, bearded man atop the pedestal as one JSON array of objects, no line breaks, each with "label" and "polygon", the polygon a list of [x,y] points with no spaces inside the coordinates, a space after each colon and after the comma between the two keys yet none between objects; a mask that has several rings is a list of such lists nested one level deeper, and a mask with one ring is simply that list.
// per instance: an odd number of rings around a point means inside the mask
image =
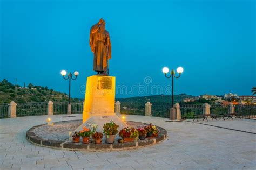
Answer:
[{"label": "bronze statue of a robed, bearded man atop the pedestal", "polygon": [[100,75],[109,75],[108,60],[111,59],[111,42],[109,32],[105,30],[105,21],[102,18],[91,27],[90,47],[94,53],[93,70]]}]

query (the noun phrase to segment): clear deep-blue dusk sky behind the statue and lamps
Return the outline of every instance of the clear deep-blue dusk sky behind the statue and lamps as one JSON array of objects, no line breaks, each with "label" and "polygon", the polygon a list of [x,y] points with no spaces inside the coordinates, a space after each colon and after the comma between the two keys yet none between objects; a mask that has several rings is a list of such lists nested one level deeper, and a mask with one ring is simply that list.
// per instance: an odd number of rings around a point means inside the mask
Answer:
[{"label": "clear deep-blue dusk sky behind the statue and lamps", "polygon": [[[84,97],[92,70],[90,27],[110,33],[116,97],[170,94],[166,66],[184,73],[174,93],[251,95],[255,1],[1,0],[0,79],[68,93],[60,75],[78,70],[72,97]],[[158,89],[158,90],[156,90]]]}]

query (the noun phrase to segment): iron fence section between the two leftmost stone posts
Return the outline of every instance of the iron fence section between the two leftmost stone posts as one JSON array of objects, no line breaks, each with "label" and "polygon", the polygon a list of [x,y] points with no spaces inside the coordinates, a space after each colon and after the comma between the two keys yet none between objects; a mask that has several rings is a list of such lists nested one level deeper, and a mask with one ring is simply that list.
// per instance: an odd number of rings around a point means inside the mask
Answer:
[{"label": "iron fence section between the two leftmost stone posts", "polygon": [[47,115],[48,103],[18,103],[16,116]]}]

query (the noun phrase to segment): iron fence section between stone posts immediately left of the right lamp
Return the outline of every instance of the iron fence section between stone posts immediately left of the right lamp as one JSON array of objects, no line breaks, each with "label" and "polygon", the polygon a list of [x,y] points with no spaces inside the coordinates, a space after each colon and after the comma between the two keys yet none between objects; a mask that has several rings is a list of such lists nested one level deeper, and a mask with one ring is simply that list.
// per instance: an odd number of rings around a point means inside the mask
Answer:
[{"label": "iron fence section between stone posts immediately left of the right lamp", "polygon": [[170,118],[170,103],[152,103],[152,116]]}]

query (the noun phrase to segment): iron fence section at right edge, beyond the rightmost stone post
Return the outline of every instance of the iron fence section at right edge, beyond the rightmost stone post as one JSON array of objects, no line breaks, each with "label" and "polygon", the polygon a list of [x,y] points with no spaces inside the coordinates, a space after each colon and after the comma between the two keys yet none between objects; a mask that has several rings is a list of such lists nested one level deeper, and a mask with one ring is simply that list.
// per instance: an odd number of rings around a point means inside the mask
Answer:
[{"label": "iron fence section at right edge, beyond the rightmost stone post", "polygon": [[234,111],[241,118],[256,119],[256,105],[235,105]]}]

